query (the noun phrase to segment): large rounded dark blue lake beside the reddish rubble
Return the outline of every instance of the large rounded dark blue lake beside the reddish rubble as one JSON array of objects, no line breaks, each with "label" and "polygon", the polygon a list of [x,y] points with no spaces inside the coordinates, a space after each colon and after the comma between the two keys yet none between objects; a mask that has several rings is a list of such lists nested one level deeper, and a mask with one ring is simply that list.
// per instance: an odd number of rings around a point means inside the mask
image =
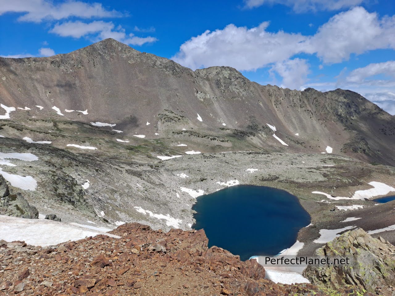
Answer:
[{"label": "large rounded dark blue lake beside the reddish rubble", "polygon": [[273,256],[291,247],[310,215],[287,191],[238,185],[197,198],[194,229],[204,229],[209,247],[227,249],[241,260]]}]

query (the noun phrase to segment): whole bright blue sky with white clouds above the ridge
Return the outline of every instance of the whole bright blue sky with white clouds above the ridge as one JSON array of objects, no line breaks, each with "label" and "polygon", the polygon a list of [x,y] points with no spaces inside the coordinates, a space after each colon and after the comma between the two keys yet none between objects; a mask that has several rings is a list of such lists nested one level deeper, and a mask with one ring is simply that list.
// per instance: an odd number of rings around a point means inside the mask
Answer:
[{"label": "whole bright blue sky with white clouds above the ridge", "polygon": [[0,56],[51,56],[112,37],[192,69],[359,92],[395,114],[395,2],[0,0]]}]

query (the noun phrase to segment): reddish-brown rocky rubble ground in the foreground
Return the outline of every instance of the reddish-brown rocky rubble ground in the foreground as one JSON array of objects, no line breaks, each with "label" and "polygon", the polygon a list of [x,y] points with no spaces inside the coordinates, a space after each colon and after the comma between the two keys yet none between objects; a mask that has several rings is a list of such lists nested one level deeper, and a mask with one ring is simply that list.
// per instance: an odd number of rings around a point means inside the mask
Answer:
[{"label": "reddish-brown rocky rubble ground in the foreground", "polygon": [[44,248],[0,241],[0,295],[358,295],[273,283],[256,260],[209,249],[203,230],[164,233],[129,223],[112,233],[122,237]]}]

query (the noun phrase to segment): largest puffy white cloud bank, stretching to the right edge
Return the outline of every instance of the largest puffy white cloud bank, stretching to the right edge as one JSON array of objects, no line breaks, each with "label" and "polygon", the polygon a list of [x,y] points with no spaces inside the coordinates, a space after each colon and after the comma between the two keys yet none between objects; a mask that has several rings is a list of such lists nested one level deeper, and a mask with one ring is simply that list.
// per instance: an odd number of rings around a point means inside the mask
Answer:
[{"label": "largest puffy white cloud bank, stretching to the right edge", "polygon": [[316,54],[326,64],[338,63],[374,49],[395,49],[395,16],[379,19],[363,7],[354,7],[329,19],[313,36],[268,32],[269,22],[254,28],[229,24],[207,30],[181,45],[173,60],[196,69],[231,66],[256,70],[298,53]]}]

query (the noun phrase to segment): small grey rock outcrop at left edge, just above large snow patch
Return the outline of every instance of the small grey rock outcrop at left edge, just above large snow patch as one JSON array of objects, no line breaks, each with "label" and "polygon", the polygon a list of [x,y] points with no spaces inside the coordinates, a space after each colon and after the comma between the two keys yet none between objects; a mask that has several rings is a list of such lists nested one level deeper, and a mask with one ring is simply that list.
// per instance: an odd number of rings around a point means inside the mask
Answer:
[{"label": "small grey rock outcrop at left edge, just above large snow patch", "polygon": [[31,206],[20,193],[7,195],[0,199],[0,214],[28,219],[37,219],[38,210]]}]

